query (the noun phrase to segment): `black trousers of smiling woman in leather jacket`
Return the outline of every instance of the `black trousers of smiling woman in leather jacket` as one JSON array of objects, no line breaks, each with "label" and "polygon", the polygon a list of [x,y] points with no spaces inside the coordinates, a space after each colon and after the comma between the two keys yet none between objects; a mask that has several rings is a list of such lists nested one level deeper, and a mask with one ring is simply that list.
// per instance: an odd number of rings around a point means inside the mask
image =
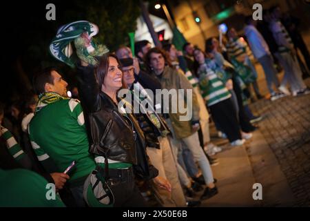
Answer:
[{"label": "black trousers of smiling woman in leather jacket", "polygon": [[130,169],[109,169],[111,190],[114,195],[114,207],[145,207],[147,202],[134,182],[134,173]]}]

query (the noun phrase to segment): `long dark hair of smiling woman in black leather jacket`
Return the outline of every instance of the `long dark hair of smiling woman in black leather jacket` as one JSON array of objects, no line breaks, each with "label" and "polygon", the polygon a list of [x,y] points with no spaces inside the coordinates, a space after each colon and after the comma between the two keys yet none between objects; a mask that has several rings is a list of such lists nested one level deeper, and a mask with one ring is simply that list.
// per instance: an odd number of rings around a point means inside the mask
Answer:
[{"label": "long dark hair of smiling woman in black leather jacket", "polygon": [[[110,65],[109,57],[114,57],[114,59],[116,59],[118,65],[121,66],[121,62],[116,57],[116,55],[114,55],[112,53],[108,53],[106,55],[101,56],[101,59],[99,61],[99,65],[95,68],[95,75],[96,75],[96,79],[97,79],[97,82],[99,84],[100,90],[101,90],[101,86],[103,85],[103,82],[105,81],[105,77],[107,76],[107,72],[109,70],[109,65]],[[123,71],[122,71],[122,73],[123,73]],[[122,87],[121,88],[126,88],[127,85],[125,84],[123,76],[124,75],[122,75]]]}]

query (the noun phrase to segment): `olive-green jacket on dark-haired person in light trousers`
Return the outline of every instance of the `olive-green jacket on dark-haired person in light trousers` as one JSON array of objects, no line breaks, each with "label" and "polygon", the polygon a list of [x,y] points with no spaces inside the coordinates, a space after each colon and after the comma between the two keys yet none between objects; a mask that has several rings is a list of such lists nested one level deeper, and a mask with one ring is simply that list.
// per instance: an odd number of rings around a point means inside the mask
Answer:
[{"label": "olive-green jacket on dark-haired person in light trousers", "polygon": [[[154,73],[153,73],[154,74]],[[155,75],[155,74],[154,74]],[[192,117],[189,120],[180,120],[180,117],[184,117],[187,115],[188,111],[185,113],[180,113],[179,110],[176,113],[172,113],[171,108],[169,109],[169,118],[172,122],[173,129],[176,133],[177,138],[185,138],[189,137],[194,133],[192,130],[192,122],[199,121],[199,104],[197,97],[194,93],[192,84],[189,83],[187,77],[179,70],[175,70],[174,68],[170,68],[166,66],[163,75],[160,78],[161,81],[161,88],[162,89],[176,89],[177,99],[169,98],[169,104],[172,104],[173,101],[178,101],[180,99],[183,100],[184,108],[186,107],[187,110],[192,110]],[[178,89],[184,89],[184,97],[179,97]],[[187,104],[187,92],[186,90],[192,90],[192,104]],[[164,101],[167,102],[167,101]],[[164,103],[162,102],[162,105]],[[169,105],[170,106],[170,105]],[[181,106],[182,107],[182,106]]]}]

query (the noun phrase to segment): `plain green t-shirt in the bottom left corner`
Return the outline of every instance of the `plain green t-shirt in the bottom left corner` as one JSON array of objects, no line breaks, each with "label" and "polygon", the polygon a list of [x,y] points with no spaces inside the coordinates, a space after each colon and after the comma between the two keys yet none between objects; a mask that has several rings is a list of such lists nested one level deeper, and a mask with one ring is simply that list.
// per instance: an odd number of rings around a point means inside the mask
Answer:
[{"label": "plain green t-shirt in the bottom left corner", "polygon": [[25,169],[3,171],[0,169],[1,207],[65,207],[55,195],[46,197],[48,182],[39,174]]}]

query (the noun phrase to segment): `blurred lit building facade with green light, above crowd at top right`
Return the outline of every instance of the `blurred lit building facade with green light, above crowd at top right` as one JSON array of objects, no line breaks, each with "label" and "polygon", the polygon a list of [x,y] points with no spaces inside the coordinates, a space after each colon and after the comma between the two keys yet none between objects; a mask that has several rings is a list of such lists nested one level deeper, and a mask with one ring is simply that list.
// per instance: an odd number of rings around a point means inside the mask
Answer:
[{"label": "blurred lit building facade with green light, above crowd at top right", "polygon": [[302,16],[310,21],[304,0],[172,0],[168,3],[185,39],[202,49],[205,39],[219,35],[220,23],[229,28],[234,26],[242,34],[244,17],[254,12],[254,3],[260,3],[263,10],[279,5],[284,12],[302,11]]}]

